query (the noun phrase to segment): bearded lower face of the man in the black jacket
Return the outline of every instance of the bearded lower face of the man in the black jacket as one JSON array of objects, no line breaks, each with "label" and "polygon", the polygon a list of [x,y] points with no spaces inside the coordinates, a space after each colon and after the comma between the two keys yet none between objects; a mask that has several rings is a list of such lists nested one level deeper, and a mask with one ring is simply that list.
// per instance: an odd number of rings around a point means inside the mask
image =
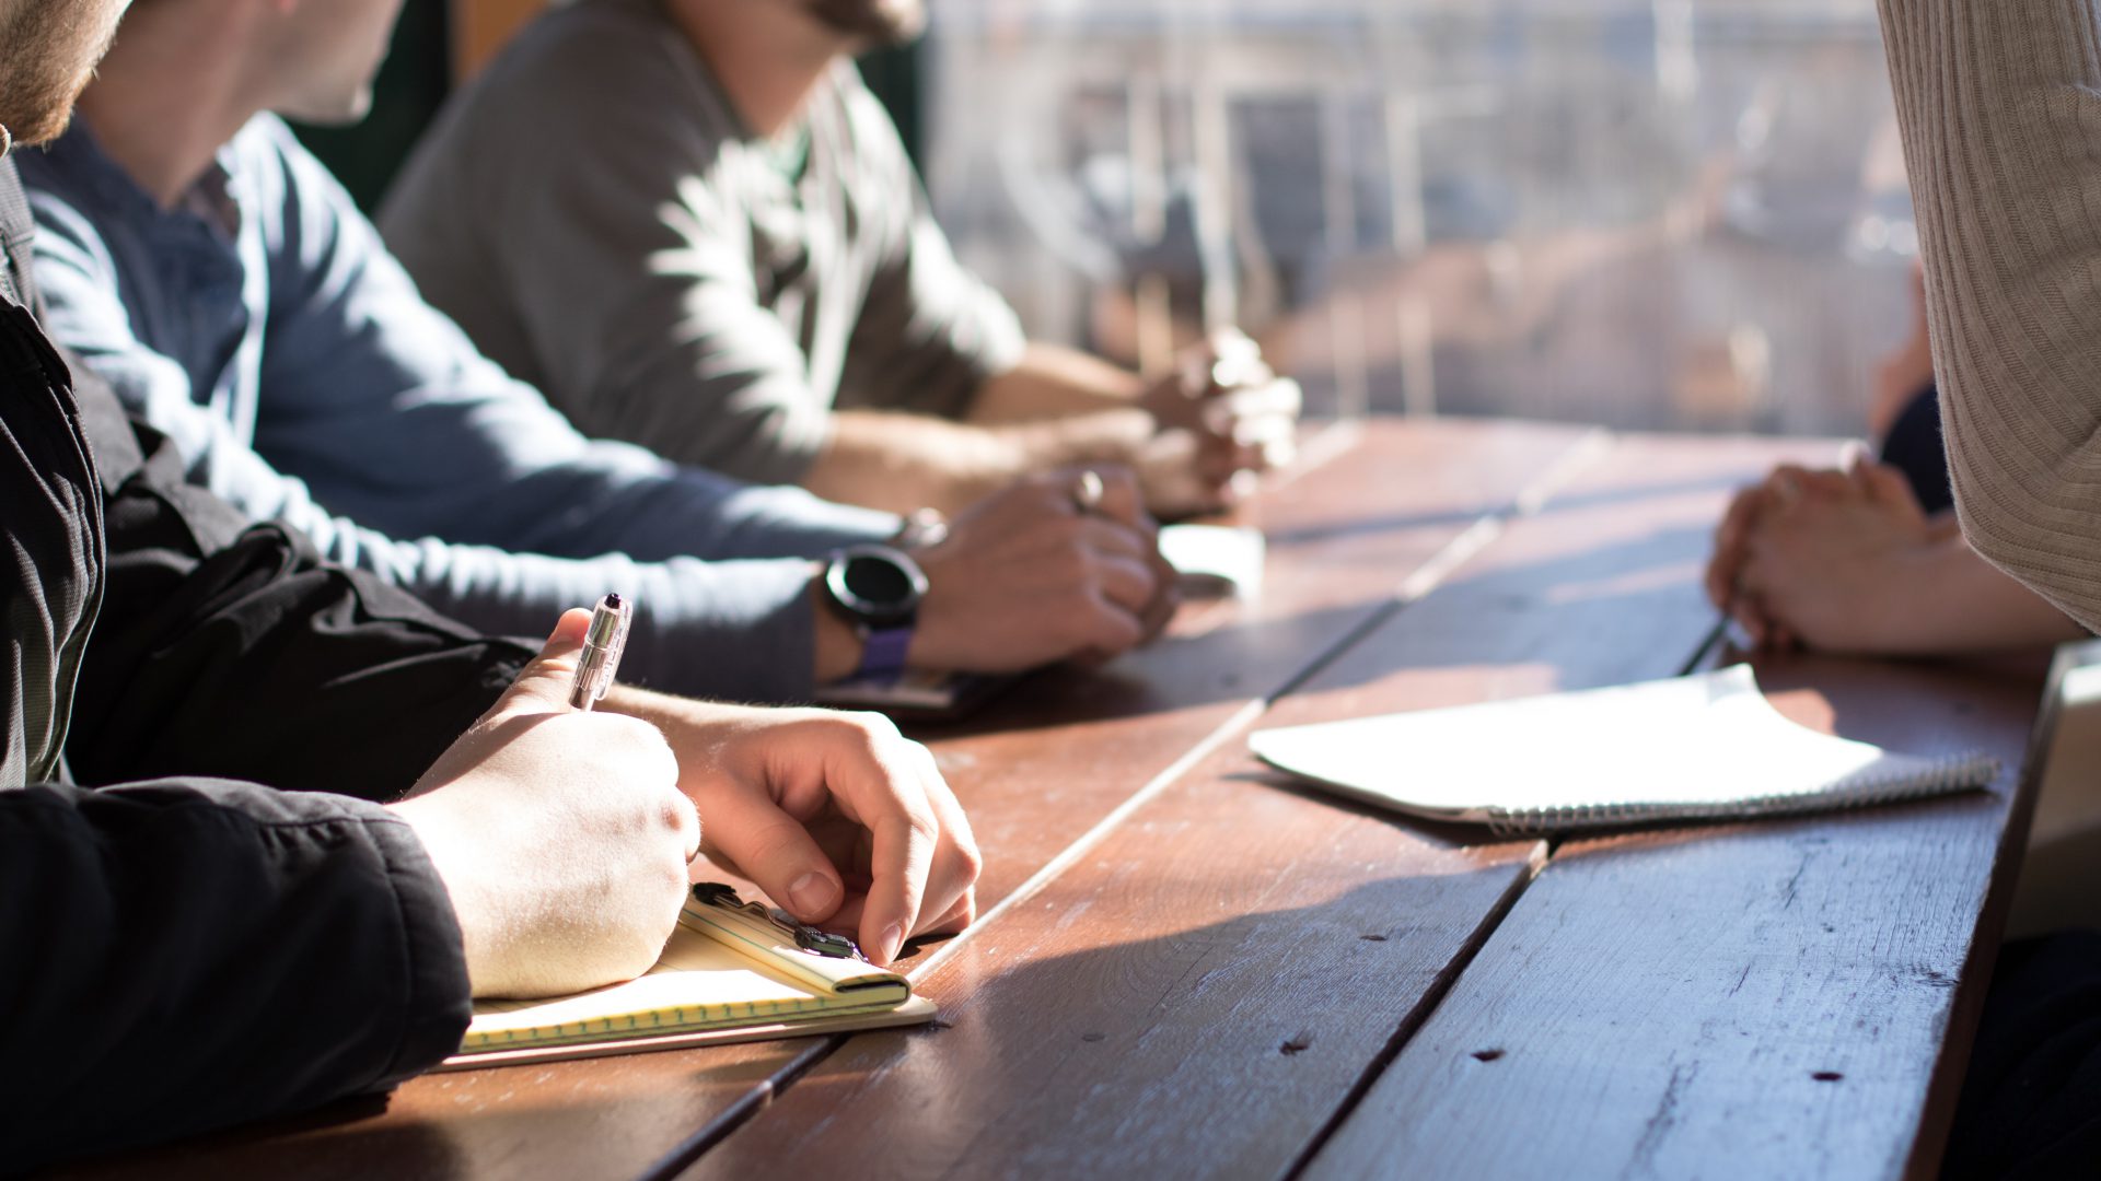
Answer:
[{"label": "bearded lower face of the man in the black jacket", "polygon": [[65,130],[126,0],[0,0],[0,128],[19,143]]}]

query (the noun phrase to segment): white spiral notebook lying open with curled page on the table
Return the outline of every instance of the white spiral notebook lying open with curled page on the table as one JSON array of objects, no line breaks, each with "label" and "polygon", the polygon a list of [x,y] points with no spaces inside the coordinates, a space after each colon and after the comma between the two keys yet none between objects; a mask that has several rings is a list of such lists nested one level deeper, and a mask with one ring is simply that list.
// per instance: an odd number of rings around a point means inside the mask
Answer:
[{"label": "white spiral notebook lying open with curled page on the table", "polygon": [[1780,717],[1748,664],[1698,677],[1248,738],[1332,792],[1498,832],[1735,820],[1981,788],[1998,761],[1922,759]]}]

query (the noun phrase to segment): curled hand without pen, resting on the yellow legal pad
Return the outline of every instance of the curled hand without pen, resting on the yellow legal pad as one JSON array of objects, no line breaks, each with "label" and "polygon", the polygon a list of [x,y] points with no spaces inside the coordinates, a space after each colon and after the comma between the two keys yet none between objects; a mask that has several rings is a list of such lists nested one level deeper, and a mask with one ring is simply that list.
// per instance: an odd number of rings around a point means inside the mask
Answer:
[{"label": "curled hand without pen, resting on the yellow legal pad", "polygon": [[798,920],[891,962],[912,935],[977,918],[971,822],[933,754],[882,714],[630,696],[679,754],[708,857]]}]

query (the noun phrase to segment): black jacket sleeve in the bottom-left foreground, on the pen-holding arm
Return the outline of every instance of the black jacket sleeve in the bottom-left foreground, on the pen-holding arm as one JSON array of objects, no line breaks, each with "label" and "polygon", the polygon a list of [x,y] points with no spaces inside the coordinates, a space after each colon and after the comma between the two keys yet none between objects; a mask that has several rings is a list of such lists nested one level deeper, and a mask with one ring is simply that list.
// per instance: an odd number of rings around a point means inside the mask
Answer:
[{"label": "black jacket sleeve in the bottom-left foreground, on the pen-holding arm", "polygon": [[214,780],[0,790],[0,1173],[382,1091],[466,965],[408,824]]}]

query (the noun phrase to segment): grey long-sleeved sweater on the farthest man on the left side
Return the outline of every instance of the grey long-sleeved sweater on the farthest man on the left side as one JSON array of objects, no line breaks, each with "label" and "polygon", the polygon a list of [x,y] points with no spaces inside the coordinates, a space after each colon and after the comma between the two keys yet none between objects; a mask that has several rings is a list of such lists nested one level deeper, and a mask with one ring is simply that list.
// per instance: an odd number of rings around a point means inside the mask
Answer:
[{"label": "grey long-sleeved sweater on the farthest man on the left side", "polygon": [[380,231],[586,435],[798,483],[834,406],[960,416],[1023,338],[849,63],[782,139],[658,0],[584,0],[448,107]]}]

